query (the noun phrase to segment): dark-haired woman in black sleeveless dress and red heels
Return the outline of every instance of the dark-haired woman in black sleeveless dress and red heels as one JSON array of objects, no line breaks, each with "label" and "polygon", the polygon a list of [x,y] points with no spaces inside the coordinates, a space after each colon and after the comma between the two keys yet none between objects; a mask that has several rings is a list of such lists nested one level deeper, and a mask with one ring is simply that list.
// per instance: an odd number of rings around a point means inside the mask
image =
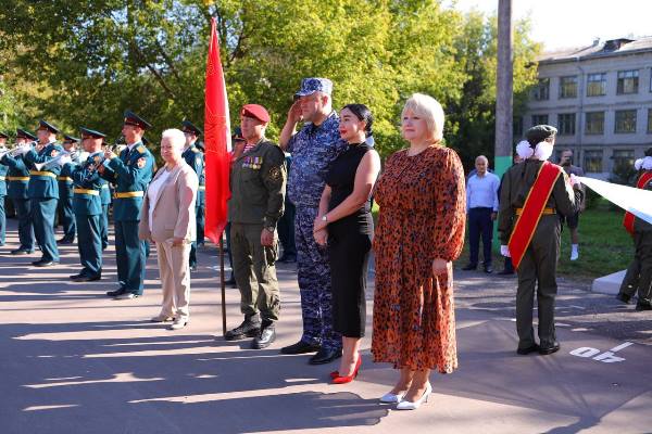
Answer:
[{"label": "dark-haired woman in black sleeveless dress and red heels", "polygon": [[366,275],[374,221],[371,194],[380,157],[373,148],[372,112],[349,104],[340,112],[339,132],[349,148],[330,166],[315,219],[317,244],[328,244],[334,330],[342,334],[342,359],[334,383],[349,383],[360,369],[360,341],[366,322]]}]

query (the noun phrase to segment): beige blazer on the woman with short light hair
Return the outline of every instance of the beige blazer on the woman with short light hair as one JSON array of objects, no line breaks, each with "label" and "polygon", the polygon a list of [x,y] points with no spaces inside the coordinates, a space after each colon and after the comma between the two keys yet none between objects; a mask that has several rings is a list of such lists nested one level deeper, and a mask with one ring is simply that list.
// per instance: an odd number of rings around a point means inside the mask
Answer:
[{"label": "beige blazer on the woman with short light hair", "polygon": [[[165,170],[162,167],[154,175],[154,179]],[[187,242],[197,239],[197,222],[195,217],[195,202],[199,179],[185,161],[179,163],[170,174],[154,201],[149,200],[145,193],[140,208],[140,222],[138,224],[138,238],[153,240],[158,243],[171,238],[181,238]],[[153,207],[152,230],[150,232],[149,209]]]}]

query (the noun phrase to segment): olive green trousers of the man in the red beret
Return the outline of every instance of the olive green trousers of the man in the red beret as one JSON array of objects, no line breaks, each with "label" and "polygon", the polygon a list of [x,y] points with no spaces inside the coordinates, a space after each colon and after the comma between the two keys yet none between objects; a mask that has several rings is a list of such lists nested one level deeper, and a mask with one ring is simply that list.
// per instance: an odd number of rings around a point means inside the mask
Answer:
[{"label": "olive green trousers of the man in the red beret", "polygon": [[260,312],[263,321],[277,321],[280,310],[276,279],[277,239],[274,246],[261,245],[262,224],[231,222],[230,245],[236,283],[240,290],[240,310],[246,317]]}]

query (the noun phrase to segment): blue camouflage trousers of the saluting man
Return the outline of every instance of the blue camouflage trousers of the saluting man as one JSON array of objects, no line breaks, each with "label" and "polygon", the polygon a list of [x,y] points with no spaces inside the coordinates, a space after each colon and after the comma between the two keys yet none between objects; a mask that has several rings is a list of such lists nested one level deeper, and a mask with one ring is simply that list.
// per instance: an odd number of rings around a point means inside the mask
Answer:
[{"label": "blue camouflage trousers of the saluting man", "polygon": [[301,341],[327,349],[341,348],[341,335],[333,330],[333,294],[328,251],[313,237],[316,207],[298,206],[294,219],[297,273],[301,294]]}]

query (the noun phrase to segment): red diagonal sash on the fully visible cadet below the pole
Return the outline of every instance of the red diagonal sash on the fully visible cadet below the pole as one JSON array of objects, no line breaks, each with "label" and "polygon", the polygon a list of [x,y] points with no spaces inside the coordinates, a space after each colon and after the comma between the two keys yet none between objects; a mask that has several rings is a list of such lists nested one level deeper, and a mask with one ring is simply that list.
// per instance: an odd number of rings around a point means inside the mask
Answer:
[{"label": "red diagonal sash on the fully visible cadet below the pole", "polygon": [[543,162],[535,183],[530,188],[523,205],[523,213],[516,218],[516,225],[510,237],[510,255],[514,268],[518,268],[523,255],[527,251],[543,208],[552,193],[552,188],[562,174],[562,168],[550,162]]}]

